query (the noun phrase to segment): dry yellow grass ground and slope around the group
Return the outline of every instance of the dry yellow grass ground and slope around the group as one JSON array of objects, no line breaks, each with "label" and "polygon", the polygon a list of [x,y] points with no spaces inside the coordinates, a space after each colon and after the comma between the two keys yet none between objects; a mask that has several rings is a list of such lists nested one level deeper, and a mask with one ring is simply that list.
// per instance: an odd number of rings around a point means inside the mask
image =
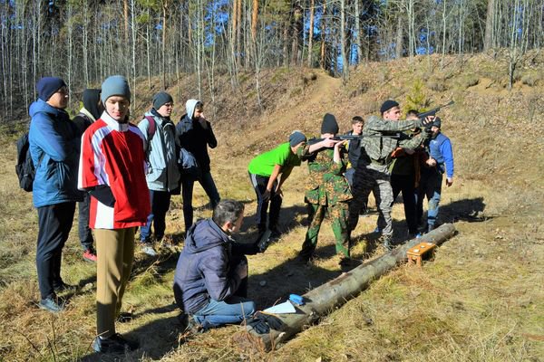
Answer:
[{"label": "dry yellow grass ground and slope around the group", "polygon": [[[353,70],[344,86],[319,71],[271,70],[262,75],[261,113],[250,106],[256,97],[251,77],[241,75],[236,91],[228,80],[218,81],[216,103],[207,110],[219,138],[210,152],[212,173],[223,198],[246,203],[241,241],[256,237],[248,162],[287,140],[291,130],[317,135],[327,111],[347,130],[351,117],[370,115],[388,98],[403,104],[419,96],[431,105],[455,100],[441,114],[456,170],[453,186],[443,189],[441,222],[454,223],[458,233],[423,269],[395,268],[269,353],[238,348],[231,339],[236,326],[200,335],[180,330],[171,291],[183,241],[180,196],[167,219],[168,237],[178,250],[161,249],[156,258],[138,252],[123,300],[135,318],[118,330],[139,339],[139,350],[124,357],[92,353],[95,271],[81,258],[76,224],[63,251],[63,279],[78,289],[63,295],[68,307],[58,316],[39,310],[37,214],[14,172],[14,142],[23,127],[3,125],[0,361],[544,361],[544,84],[523,81],[525,73],[544,71],[544,62],[539,53],[531,56],[511,91],[505,89],[505,61],[486,55],[446,58],[442,69],[438,57],[371,63]],[[183,113],[182,100],[193,96],[190,80],[178,84],[169,88],[180,99],[175,119]],[[133,114],[142,113],[143,98],[151,99],[153,91],[139,92]],[[249,257],[249,294],[259,309],[342,272],[328,222],[316,262],[307,268],[293,260],[306,233],[306,174],[305,165],[297,168],[284,187],[281,240]],[[200,187],[196,194],[196,216],[209,217]],[[402,204],[393,206],[393,219],[395,240],[403,241]],[[355,230],[353,253],[360,262],[384,252],[370,248],[375,222],[376,214],[362,216]]]}]

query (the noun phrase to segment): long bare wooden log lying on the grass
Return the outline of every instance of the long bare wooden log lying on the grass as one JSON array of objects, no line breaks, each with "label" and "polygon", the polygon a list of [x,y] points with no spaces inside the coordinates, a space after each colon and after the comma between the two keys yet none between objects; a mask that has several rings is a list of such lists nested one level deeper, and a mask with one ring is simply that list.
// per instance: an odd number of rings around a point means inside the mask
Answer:
[{"label": "long bare wooden log lying on the grass", "polygon": [[292,338],[305,326],[316,323],[318,319],[329,313],[335,307],[343,305],[347,300],[355,298],[364,291],[371,281],[384,275],[406,260],[408,249],[418,243],[428,242],[440,245],[455,233],[453,224],[442,224],[440,227],[426,233],[422,238],[412,239],[408,243],[387,252],[374,261],[359,265],[352,271],[342,273],[333,281],[308,291],[303,295],[305,305],[296,307],[294,314],[278,314],[277,317],[285,323],[282,331],[270,329],[268,334],[257,334],[251,327],[236,333],[233,340],[244,350],[269,351],[287,339]]}]

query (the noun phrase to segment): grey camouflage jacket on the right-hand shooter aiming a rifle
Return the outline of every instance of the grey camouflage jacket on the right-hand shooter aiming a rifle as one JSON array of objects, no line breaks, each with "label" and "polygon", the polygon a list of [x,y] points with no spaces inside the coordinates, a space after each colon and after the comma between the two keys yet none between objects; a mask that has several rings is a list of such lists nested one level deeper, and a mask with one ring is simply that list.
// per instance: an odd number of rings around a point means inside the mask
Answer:
[{"label": "grey camouflage jacket on the right-hand shooter aiming a rifle", "polygon": [[[374,161],[382,165],[391,163],[391,153],[397,147],[402,148],[417,148],[425,138],[428,137],[426,132],[420,132],[413,138],[399,140],[389,137],[380,136],[383,132],[403,132],[422,126],[422,121],[418,120],[385,120],[380,117],[371,116],[364,122],[363,138],[361,142],[361,157],[359,162],[369,164]],[[370,137],[368,137],[370,136]]]}]

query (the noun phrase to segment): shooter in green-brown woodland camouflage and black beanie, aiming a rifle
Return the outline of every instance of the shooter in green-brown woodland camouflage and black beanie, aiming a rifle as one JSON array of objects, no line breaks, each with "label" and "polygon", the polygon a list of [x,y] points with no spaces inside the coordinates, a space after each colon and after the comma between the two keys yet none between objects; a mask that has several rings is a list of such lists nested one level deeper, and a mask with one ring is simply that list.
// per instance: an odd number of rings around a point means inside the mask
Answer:
[{"label": "shooter in green-brown woodland camouflage and black beanie, aiming a rifle", "polygon": [[335,116],[327,113],[321,125],[323,140],[310,141],[297,151],[299,157],[308,162],[310,171],[305,193],[305,201],[311,207],[310,224],[299,253],[299,260],[303,262],[308,262],[316,250],[317,236],[326,213],[332,218],[336,253],[341,254],[341,263],[349,261],[347,202],[352,199],[352,194],[344,176],[347,163],[347,152],[343,148],[345,141],[331,139],[337,133]]}]

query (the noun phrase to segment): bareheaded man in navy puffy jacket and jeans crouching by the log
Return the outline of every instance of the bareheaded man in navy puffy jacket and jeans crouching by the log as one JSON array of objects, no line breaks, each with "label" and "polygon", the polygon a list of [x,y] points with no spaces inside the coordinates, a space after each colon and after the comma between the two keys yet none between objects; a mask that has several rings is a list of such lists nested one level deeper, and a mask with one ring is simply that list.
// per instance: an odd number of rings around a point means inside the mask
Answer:
[{"label": "bareheaded man in navy puffy jacket and jeans crouching by the log", "polygon": [[[176,303],[203,329],[240,323],[255,312],[248,300],[248,260],[233,249],[244,218],[244,205],[222,200],[211,219],[187,233],[174,276]],[[189,321],[190,323],[191,321]]]}]

